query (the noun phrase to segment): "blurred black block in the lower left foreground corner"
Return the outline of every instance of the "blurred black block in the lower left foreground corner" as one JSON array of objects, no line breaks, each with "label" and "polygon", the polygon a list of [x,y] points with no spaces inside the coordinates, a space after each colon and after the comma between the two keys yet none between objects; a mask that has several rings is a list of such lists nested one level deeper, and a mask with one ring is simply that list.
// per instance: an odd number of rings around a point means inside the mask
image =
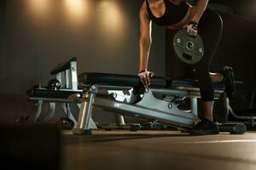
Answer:
[{"label": "blurred black block in the lower left foreground corner", "polygon": [[61,133],[54,123],[0,124],[0,169],[59,169]]}]

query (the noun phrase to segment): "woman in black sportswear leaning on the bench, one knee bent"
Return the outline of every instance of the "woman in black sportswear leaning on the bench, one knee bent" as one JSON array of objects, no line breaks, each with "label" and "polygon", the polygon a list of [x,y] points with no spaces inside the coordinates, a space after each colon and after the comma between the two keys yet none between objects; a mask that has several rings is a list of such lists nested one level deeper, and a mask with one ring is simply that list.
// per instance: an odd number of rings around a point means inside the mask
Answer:
[{"label": "woman in black sportswear leaning on the bench, one knee bent", "polygon": [[[228,96],[233,92],[233,72],[225,67],[220,73],[210,73],[212,56],[218,48],[222,29],[212,29],[207,11],[208,0],[198,0],[192,7],[185,0],[145,0],[140,9],[140,70],[138,76],[145,87],[150,86],[150,73],[148,71],[148,55],[151,46],[152,21],[158,26],[170,29],[180,29],[186,26],[190,36],[201,34],[205,45],[205,54],[200,62],[193,65],[195,78],[198,79],[203,105],[203,118],[190,133],[214,134],[218,133],[218,126],[213,122],[212,110],[214,105],[212,82],[225,82]],[[210,41],[208,41],[210,40]]]}]

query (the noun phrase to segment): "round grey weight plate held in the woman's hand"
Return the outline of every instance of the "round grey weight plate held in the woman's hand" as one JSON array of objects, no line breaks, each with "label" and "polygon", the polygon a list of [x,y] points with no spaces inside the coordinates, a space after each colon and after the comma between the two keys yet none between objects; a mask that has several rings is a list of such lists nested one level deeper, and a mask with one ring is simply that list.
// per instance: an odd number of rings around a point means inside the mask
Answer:
[{"label": "round grey weight plate held in the woman's hand", "polygon": [[177,58],[189,65],[199,62],[204,54],[204,45],[200,35],[191,37],[186,28],[180,29],[175,34],[173,48]]}]

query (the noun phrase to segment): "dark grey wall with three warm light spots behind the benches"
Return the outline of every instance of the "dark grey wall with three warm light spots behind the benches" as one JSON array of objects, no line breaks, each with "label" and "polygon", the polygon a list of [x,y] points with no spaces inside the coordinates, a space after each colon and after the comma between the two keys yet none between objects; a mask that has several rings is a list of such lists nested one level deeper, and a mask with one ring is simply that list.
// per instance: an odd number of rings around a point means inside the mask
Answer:
[{"label": "dark grey wall with three warm light spots behind the benches", "polygon": [[[136,75],[138,11],[142,3],[143,0],[8,0],[5,16],[1,5],[7,38],[0,70],[1,121],[29,115],[32,103],[26,102],[26,89],[36,83],[46,85],[53,78],[49,71],[71,57],[78,58],[79,73]],[[149,69],[164,76],[165,30],[154,26],[153,31]]]}]

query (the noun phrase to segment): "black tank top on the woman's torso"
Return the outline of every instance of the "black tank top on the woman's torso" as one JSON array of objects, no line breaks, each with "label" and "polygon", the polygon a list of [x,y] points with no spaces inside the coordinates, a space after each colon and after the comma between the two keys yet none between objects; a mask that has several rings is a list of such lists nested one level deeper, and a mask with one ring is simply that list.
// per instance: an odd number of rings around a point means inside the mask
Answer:
[{"label": "black tank top on the woman's torso", "polygon": [[146,0],[146,3],[149,19],[159,26],[172,26],[173,24],[183,20],[189,10],[189,4],[184,1],[179,5],[175,5],[170,0],[164,0],[166,12],[160,18],[157,18],[151,12],[148,0]]}]

